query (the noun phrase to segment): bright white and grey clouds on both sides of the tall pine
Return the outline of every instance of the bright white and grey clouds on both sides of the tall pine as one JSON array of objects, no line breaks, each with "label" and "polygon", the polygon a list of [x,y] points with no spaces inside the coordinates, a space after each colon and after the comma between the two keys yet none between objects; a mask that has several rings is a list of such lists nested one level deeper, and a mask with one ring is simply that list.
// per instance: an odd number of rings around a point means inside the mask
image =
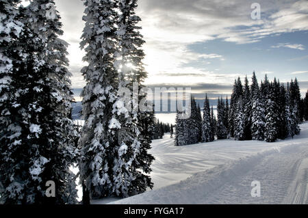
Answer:
[{"label": "bright white and grey clouds on both sides of the tall pine", "polygon": [[[70,68],[73,69],[73,87],[82,87],[84,81],[79,72],[84,63],[84,55],[79,50],[79,41],[84,22],[82,1],[55,0],[64,23],[64,39],[70,43]],[[308,29],[308,2],[259,0],[261,20],[251,19],[251,3],[246,0],[140,0],[137,15],[142,18],[142,34],[146,44],[144,51],[148,83],[159,81],[196,81],[191,77],[169,77],[170,74],[201,74],[206,71],[205,81],[219,80],[230,83],[234,75],[228,72],[214,72],[188,67],[192,62],[211,64],[209,60],[223,61],[223,54],[215,54],[203,48],[204,53],[188,49],[196,42],[209,42],[221,39],[237,44],[258,42],[266,36]],[[304,49],[303,46],[289,44],[292,49]],[[183,67],[185,66],[185,67]],[[203,66],[204,68],[205,66]],[[215,66],[219,68],[220,66]],[[168,77],[164,77],[168,74]],[[222,77],[220,77],[222,75]],[[226,76],[227,75],[227,76]],[[231,78],[233,77],[233,78]]]}]

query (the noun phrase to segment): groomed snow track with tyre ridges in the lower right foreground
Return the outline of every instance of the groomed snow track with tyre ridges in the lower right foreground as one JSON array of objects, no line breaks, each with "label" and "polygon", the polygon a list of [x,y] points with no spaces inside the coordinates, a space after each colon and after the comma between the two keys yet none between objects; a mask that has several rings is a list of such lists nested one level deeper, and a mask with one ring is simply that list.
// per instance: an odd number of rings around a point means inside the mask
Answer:
[{"label": "groomed snow track with tyre ridges in the lower right foreground", "polygon": [[[292,204],[305,204],[307,149],[308,147],[303,145],[273,148],[199,172],[175,185],[114,203],[281,204],[287,201]],[[261,197],[251,197],[251,182],[254,180],[261,182]]]}]

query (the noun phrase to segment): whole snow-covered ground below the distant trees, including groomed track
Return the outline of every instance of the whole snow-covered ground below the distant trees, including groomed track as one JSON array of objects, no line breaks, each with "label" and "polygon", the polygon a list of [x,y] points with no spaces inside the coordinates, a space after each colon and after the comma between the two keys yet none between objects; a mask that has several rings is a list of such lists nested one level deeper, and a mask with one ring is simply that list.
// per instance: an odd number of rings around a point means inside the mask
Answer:
[{"label": "whole snow-covered ground below the distant trees, including groomed track", "polygon": [[[175,147],[169,135],[153,141],[155,187],[124,200],[93,204],[307,204],[308,122],[294,139],[220,140]],[[261,197],[251,196],[251,182]]]}]

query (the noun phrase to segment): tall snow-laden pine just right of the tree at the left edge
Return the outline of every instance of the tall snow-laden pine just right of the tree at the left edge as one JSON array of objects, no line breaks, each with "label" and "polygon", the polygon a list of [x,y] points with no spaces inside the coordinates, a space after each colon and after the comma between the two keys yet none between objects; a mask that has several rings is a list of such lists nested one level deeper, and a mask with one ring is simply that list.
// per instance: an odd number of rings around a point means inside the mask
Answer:
[{"label": "tall snow-laden pine just right of the tree at the left edge", "polygon": [[[32,169],[31,172],[38,168],[44,169],[40,175],[32,176],[38,181],[41,178],[42,181],[39,183],[42,190],[46,189],[48,180],[54,180],[57,187],[55,200],[46,197],[44,192],[40,193],[43,195],[43,203],[74,204],[77,202],[76,179],[69,168],[76,163],[78,150],[75,147],[77,131],[73,120],[70,120],[73,92],[70,90],[71,74],[67,69],[68,44],[60,39],[63,35],[61,17],[55,9],[53,0],[31,1],[27,6],[27,13],[29,16],[27,24],[31,31],[39,36],[42,43],[42,45],[39,44],[42,51],[36,53],[42,59],[38,64],[34,64],[35,70],[38,66],[42,66],[38,69],[42,76],[32,81],[35,94],[30,95],[33,99],[29,104],[31,109],[37,109],[36,118],[30,122],[31,126],[39,126],[42,135],[38,133],[40,137],[37,137],[35,133],[35,137],[31,134],[30,138],[33,137],[34,141],[39,140],[40,144],[44,145],[35,147],[36,156],[31,161],[30,169]],[[31,144],[36,145],[33,142]],[[47,159],[48,163],[43,164],[44,159]],[[38,163],[40,163],[39,166]],[[38,187],[37,183],[37,181],[34,183],[34,190]]]}]

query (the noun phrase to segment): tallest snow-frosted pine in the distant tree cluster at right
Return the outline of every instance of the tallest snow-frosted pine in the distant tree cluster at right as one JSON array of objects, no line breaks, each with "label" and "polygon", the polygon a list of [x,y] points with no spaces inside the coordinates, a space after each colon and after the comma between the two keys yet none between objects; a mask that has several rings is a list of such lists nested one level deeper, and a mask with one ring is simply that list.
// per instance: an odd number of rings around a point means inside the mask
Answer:
[{"label": "tallest snow-frosted pine in the distant tree cluster at right", "polygon": [[252,99],[252,117],[251,117],[251,135],[253,140],[264,140],[265,127],[265,109],[264,99],[262,99],[259,90],[259,84],[255,72],[253,72],[253,83],[251,85],[251,99]]}]

